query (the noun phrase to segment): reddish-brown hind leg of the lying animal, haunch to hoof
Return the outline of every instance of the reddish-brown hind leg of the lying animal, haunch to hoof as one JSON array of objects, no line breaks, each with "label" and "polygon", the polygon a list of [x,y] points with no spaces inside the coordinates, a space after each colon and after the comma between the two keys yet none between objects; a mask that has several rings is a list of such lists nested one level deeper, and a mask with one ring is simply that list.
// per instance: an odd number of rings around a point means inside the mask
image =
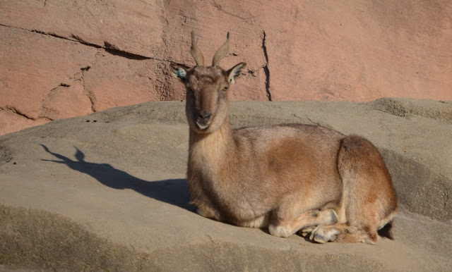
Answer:
[{"label": "reddish-brown hind leg of the lying animal, haunch to hoof", "polygon": [[338,154],[338,171],[343,180],[340,203],[345,209],[347,225],[320,226],[311,232],[311,239],[375,244],[380,218],[396,209],[391,175],[381,154],[363,137],[347,136]]}]

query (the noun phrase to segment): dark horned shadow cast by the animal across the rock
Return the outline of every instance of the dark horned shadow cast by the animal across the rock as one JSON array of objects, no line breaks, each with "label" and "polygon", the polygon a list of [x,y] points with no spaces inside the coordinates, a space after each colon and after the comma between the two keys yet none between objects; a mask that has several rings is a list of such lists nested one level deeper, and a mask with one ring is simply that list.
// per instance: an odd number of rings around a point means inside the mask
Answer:
[{"label": "dark horned shadow cast by the animal across the rock", "polygon": [[189,204],[189,192],[185,179],[147,181],[136,178],[125,171],[114,168],[109,163],[93,163],[85,161],[85,154],[76,148],[74,157],[69,159],[61,154],[51,152],[44,144],[40,144],[44,150],[59,160],[41,159],[54,163],[66,164],[69,168],[90,175],[105,186],[117,190],[131,189],[146,197],[151,197],[160,202],[179,206],[182,209],[195,211]]}]

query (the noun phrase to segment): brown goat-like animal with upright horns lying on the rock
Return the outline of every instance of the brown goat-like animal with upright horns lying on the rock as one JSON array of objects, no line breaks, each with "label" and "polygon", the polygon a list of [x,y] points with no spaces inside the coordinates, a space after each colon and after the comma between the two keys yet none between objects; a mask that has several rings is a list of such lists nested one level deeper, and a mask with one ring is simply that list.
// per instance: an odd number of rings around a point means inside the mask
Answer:
[{"label": "brown goat-like animal with upright horns lying on the rock", "polygon": [[246,64],[218,66],[229,40],[228,32],[207,67],[191,32],[196,66],[170,65],[186,87],[187,183],[198,214],[278,237],[300,230],[320,243],[374,244],[383,227],[392,238],[396,192],[371,142],[319,125],[230,128],[229,87]]}]

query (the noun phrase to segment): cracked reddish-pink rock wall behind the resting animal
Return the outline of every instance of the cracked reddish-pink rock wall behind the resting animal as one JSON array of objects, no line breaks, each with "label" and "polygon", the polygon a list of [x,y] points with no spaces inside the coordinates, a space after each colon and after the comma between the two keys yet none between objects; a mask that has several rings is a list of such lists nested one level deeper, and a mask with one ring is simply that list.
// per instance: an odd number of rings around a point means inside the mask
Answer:
[{"label": "cracked reddish-pink rock wall behind the resting animal", "polygon": [[451,1],[0,1],[0,134],[184,99],[169,61],[248,64],[234,100],[452,100]]}]

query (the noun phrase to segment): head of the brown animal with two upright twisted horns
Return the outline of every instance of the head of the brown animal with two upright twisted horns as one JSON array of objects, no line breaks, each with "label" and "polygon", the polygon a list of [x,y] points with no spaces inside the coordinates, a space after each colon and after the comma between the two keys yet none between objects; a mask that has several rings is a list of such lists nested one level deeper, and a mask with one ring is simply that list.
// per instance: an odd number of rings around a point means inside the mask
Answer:
[{"label": "head of the brown animal with two upright twisted horns", "polygon": [[229,51],[229,32],[226,42],[213,56],[212,66],[206,66],[201,50],[196,45],[194,32],[191,32],[191,56],[196,61],[194,68],[171,63],[172,75],[182,81],[186,87],[186,116],[190,127],[201,133],[218,130],[229,108],[229,87],[235,83],[235,77],[246,63],[238,63],[224,70],[218,63]]}]

